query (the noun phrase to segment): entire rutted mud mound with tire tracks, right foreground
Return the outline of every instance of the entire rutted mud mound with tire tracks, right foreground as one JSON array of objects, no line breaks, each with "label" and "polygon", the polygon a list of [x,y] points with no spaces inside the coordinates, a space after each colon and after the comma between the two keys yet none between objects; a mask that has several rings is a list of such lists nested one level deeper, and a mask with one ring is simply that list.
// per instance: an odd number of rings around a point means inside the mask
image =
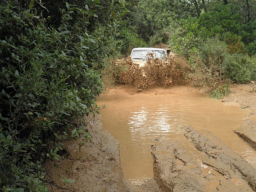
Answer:
[{"label": "entire rutted mud mound with tire tracks, right foreground", "polygon": [[256,169],[208,131],[184,127],[184,140],[152,145],[163,191],[256,191]]}]

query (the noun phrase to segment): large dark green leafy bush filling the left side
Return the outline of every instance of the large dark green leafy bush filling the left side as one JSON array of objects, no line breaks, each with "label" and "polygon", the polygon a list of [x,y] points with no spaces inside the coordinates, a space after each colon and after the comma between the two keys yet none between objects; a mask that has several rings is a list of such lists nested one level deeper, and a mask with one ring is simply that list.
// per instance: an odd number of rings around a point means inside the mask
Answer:
[{"label": "large dark green leafy bush filling the left side", "polygon": [[94,98],[103,85],[87,56],[96,41],[79,27],[95,15],[66,4],[55,29],[33,4],[26,10],[5,3],[0,4],[0,190],[45,191],[41,163],[59,159],[58,140],[80,129],[74,121],[98,109]]}]

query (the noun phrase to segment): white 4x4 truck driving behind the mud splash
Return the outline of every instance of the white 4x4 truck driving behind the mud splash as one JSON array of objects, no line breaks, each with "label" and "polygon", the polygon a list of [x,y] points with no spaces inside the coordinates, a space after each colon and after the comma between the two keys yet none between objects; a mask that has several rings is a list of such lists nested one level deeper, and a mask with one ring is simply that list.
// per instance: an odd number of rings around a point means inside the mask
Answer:
[{"label": "white 4x4 truck driving behind the mud splash", "polygon": [[160,61],[169,61],[166,49],[138,47],[131,51],[131,61],[143,67],[147,60],[159,59]]}]

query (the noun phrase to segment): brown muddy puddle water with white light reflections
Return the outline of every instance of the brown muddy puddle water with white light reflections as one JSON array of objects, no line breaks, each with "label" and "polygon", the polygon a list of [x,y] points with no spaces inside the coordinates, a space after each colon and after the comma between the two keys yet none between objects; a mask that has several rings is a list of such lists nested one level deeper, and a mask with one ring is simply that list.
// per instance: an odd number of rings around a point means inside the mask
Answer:
[{"label": "brown muddy puddle water with white light reflections", "polygon": [[102,127],[119,140],[122,169],[128,180],[143,183],[153,176],[151,144],[157,140],[187,143],[181,130],[184,125],[211,132],[256,167],[256,152],[232,131],[244,123],[248,111],[209,99],[196,89],[183,86],[176,90],[130,95],[113,89],[97,99],[98,106],[107,105],[100,111]]}]

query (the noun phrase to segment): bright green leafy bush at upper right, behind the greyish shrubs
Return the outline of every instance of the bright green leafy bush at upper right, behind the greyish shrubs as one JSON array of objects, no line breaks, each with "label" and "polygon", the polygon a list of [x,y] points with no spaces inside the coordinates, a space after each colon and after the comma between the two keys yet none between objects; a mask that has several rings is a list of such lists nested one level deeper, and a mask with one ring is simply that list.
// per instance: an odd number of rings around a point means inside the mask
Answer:
[{"label": "bright green leafy bush at upper right, behind the greyish shrubs", "polygon": [[193,54],[193,49],[198,49],[203,41],[215,37],[225,41],[233,52],[247,51],[249,55],[255,54],[255,21],[244,24],[239,7],[233,3],[216,3],[198,18],[188,17],[170,22],[164,31],[169,36],[170,49],[186,58]]}]

